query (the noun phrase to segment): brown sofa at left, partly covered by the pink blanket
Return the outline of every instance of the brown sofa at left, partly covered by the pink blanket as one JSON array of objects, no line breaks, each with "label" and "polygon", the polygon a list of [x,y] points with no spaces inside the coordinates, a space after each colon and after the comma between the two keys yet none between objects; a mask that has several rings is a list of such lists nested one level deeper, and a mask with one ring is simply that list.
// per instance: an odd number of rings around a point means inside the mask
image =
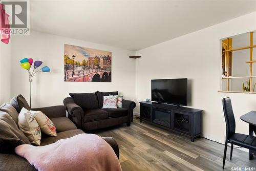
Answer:
[{"label": "brown sofa at left, partly covered by the pink blanket", "polygon": [[[2,108],[4,108],[4,106],[2,106]],[[82,130],[77,129],[75,124],[66,117],[66,108],[63,105],[31,110],[43,112],[56,126],[57,136],[50,137],[47,135],[42,135],[40,146],[54,143],[59,139],[69,138],[74,135],[84,133]],[[9,134],[8,132],[6,133],[3,131],[5,127],[9,128],[6,130],[12,130],[12,132],[19,136]],[[30,165],[25,158],[19,157],[14,153],[14,148],[16,146],[25,144],[22,138],[18,138],[20,136],[25,136],[22,134],[23,133],[18,129],[18,126],[16,126],[12,115],[8,114],[7,112],[3,112],[3,110],[0,109],[0,170],[36,170],[35,167]],[[116,141],[112,137],[102,138],[112,146],[114,152],[119,158],[119,148]]]}]

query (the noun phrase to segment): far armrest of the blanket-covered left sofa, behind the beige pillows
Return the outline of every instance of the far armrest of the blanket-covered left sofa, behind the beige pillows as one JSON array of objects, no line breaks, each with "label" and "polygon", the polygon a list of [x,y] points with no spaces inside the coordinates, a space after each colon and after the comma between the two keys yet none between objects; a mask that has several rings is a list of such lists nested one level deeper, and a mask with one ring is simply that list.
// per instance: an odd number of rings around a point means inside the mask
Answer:
[{"label": "far armrest of the blanket-covered left sofa, behind the beige pillows", "polygon": [[34,108],[32,111],[41,111],[48,118],[66,117],[66,109],[63,105],[49,106],[45,108]]}]

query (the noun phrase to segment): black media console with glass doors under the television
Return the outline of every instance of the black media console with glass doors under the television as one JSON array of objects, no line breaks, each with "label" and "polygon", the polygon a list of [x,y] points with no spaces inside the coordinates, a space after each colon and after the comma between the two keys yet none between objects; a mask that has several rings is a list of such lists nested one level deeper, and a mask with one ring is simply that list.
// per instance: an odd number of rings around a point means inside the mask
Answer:
[{"label": "black media console with glass doors under the television", "polygon": [[140,102],[140,122],[143,120],[163,129],[188,136],[192,142],[195,138],[201,137],[201,114],[202,110],[199,109]]}]

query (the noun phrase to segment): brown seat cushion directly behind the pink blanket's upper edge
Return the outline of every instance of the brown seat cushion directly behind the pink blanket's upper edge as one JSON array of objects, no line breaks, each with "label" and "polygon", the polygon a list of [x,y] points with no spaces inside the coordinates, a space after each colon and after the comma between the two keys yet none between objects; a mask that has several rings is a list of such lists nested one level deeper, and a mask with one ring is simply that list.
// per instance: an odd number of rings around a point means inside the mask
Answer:
[{"label": "brown seat cushion directly behind the pink blanket's upper edge", "polygon": [[[69,130],[69,131],[63,131],[57,134],[56,137],[44,137],[41,140],[40,146],[52,144],[60,139],[63,138],[70,138],[78,134],[83,134],[84,132],[82,130],[76,129],[76,130]],[[72,145],[72,144],[70,144]]]}]

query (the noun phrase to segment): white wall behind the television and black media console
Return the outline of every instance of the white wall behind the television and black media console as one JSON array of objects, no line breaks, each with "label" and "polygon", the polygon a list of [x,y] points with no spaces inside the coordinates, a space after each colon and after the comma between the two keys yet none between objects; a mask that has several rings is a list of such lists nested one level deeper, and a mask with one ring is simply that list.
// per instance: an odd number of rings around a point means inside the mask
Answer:
[{"label": "white wall behind the television and black media console", "polygon": [[189,106],[204,110],[204,137],[224,142],[224,97],[232,100],[237,132],[248,134],[248,124],[241,121],[240,116],[256,110],[256,95],[218,92],[220,39],[254,30],[256,12],[137,51],[136,55],[141,58],[136,59],[136,112],[139,112],[139,101],[151,98],[151,79],[188,78],[191,83]]}]

